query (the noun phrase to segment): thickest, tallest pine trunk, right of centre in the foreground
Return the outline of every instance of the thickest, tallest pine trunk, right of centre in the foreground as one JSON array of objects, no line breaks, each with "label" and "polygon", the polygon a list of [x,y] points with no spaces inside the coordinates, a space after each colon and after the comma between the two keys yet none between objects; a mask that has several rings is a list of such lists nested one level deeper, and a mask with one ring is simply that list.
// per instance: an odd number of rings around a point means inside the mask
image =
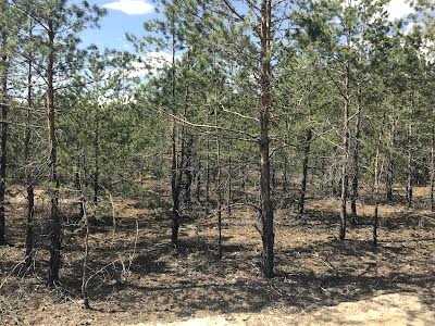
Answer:
[{"label": "thickest, tallest pine trunk, right of centre in the foreground", "polygon": [[271,22],[272,0],[261,1],[261,111],[260,111],[260,188],[262,222],[262,269],[265,277],[273,277],[274,227],[271,200],[271,164],[269,153],[269,120],[271,96]]}]

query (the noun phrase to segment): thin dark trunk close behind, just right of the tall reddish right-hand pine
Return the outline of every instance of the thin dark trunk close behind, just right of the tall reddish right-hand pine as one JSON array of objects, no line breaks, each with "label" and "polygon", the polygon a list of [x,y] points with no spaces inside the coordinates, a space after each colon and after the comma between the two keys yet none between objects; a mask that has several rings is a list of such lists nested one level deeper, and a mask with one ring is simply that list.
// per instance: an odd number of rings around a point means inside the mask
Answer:
[{"label": "thin dark trunk close behind, just right of the tall reddish right-hand pine", "polygon": [[362,120],[362,88],[358,88],[358,111],[355,126],[355,147],[353,147],[353,175],[352,175],[352,192],[351,192],[351,224],[358,224],[357,201],[359,198],[359,177],[360,177],[360,141],[361,141],[361,120]]}]

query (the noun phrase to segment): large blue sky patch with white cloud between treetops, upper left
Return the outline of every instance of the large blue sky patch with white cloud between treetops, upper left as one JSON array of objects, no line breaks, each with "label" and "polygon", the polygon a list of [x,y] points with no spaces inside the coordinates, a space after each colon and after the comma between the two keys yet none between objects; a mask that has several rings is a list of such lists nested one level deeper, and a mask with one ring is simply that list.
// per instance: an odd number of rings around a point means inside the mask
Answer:
[{"label": "large blue sky patch with white cloud between treetops, upper left", "polygon": [[99,29],[88,29],[82,34],[83,45],[97,45],[120,51],[132,50],[125,39],[126,33],[144,34],[144,22],[157,17],[150,0],[89,0],[91,4],[104,7],[108,14],[102,17]]}]

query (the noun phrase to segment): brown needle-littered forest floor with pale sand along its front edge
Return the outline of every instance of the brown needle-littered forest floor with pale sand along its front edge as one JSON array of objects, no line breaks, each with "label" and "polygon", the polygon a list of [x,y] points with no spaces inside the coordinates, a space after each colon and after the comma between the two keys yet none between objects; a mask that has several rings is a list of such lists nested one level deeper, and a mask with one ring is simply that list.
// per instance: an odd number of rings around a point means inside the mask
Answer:
[{"label": "brown needle-littered forest floor with pale sand along its front edge", "polygon": [[[417,190],[417,198],[426,196]],[[48,203],[38,193],[36,225],[44,229]],[[219,260],[215,216],[184,216],[175,252],[167,208],[159,205],[115,200],[116,229],[110,223],[92,227],[91,310],[84,310],[84,229],[66,227],[61,284],[47,287],[47,235],[37,237],[35,271],[23,271],[24,198],[10,198],[12,244],[0,248],[0,324],[435,325],[435,218],[428,211],[382,204],[374,249],[369,203],[359,206],[360,225],[349,225],[341,243],[336,199],[308,201],[303,222],[276,210],[276,277],[268,280],[259,267],[254,211],[224,212]]]}]

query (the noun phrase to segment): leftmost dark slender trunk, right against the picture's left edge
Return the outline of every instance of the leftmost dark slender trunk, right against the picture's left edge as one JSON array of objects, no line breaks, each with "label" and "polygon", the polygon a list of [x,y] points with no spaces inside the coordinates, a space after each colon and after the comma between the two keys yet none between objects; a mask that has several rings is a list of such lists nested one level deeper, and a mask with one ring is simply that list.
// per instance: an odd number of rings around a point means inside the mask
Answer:
[{"label": "leftmost dark slender trunk, right against the picture's left edge", "polygon": [[[5,51],[8,34],[2,33],[3,50]],[[1,71],[1,153],[0,153],[0,246],[7,243],[5,237],[5,193],[7,193],[7,155],[8,155],[8,55],[3,54],[3,71]]]}]

